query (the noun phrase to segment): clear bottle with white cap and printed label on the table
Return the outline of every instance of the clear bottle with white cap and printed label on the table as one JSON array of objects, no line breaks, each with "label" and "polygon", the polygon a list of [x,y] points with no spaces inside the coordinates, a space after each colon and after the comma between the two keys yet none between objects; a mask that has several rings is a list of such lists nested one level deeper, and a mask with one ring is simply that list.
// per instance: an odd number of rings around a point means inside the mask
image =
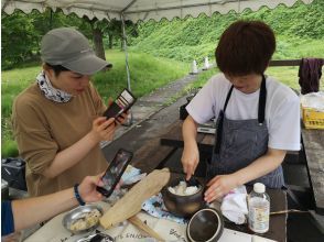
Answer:
[{"label": "clear bottle with white cap and printed label on the table", "polygon": [[248,207],[249,229],[256,233],[266,233],[269,230],[270,198],[263,184],[253,185],[253,190],[248,196]]}]

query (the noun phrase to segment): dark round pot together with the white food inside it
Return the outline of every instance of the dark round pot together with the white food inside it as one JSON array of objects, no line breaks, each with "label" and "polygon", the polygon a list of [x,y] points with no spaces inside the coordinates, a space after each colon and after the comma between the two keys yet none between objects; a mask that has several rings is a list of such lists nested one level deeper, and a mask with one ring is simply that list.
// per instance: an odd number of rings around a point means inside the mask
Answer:
[{"label": "dark round pot together with the white food inside it", "polygon": [[165,208],[173,215],[188,218],[204,206],[204,186],[196,179],[184,177],[171,180],[163,189]]}]

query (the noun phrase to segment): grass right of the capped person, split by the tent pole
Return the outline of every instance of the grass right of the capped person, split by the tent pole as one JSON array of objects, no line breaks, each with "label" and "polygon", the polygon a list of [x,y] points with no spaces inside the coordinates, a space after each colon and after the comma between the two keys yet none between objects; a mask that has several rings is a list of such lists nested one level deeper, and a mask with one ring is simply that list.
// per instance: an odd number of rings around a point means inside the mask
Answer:
[{"label": "grass right of the capped person, split by the tent pole", "polygon": [[[119,51],[109,51],[106,57],[112,63],[112,69],[99,73],[93,78],[105,100],[109,97],[116,98],[118,92],[127,86],[125,54]],[[142,53],[130,53],[129,65],[131,90],[137,97],[149,94],[190,72],[187,64]]]}]

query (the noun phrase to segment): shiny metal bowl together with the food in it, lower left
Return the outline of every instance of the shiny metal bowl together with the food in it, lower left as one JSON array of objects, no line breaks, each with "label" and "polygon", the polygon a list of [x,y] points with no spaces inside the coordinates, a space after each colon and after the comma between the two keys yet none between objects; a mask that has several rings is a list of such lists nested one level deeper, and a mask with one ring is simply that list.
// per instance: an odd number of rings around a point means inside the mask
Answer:
[{"label": "shiny metal bowl together with the food in it, lower left", "polygon": [[99,224],[104,211],[97,205],[79,206],[63,218],[63,227],[74,234],[95,230]]}]

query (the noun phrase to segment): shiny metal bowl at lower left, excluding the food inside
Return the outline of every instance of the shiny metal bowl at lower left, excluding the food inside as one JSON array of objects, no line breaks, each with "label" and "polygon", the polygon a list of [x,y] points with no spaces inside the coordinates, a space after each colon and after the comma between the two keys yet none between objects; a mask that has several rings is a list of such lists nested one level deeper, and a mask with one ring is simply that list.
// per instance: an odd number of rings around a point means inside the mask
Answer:
[{"label": "shiny metal bowl at lower left, excluding the food inside", "polygon": [[94,229],[96,229],[99,224],[99,219],[98,222],[89,228],[83,229],[83,230],[71,230],[71,226],[76,222],[77,220],[85,218],[85,216],[87,213],[89,213],[90,211],[94,211],[95,209],[97,209],[100,212],[100,216],[104,215],[104,210],[102,208],[100,208],[97,205],[85,205],[85,206],[79,206],[73,210],[71,210],[69,212],[67,212],[62,221],[62,224],[65,229],[67,229],[69,232],[72,233],[84,233],[84,232],[89,232],[93,231]]}]

